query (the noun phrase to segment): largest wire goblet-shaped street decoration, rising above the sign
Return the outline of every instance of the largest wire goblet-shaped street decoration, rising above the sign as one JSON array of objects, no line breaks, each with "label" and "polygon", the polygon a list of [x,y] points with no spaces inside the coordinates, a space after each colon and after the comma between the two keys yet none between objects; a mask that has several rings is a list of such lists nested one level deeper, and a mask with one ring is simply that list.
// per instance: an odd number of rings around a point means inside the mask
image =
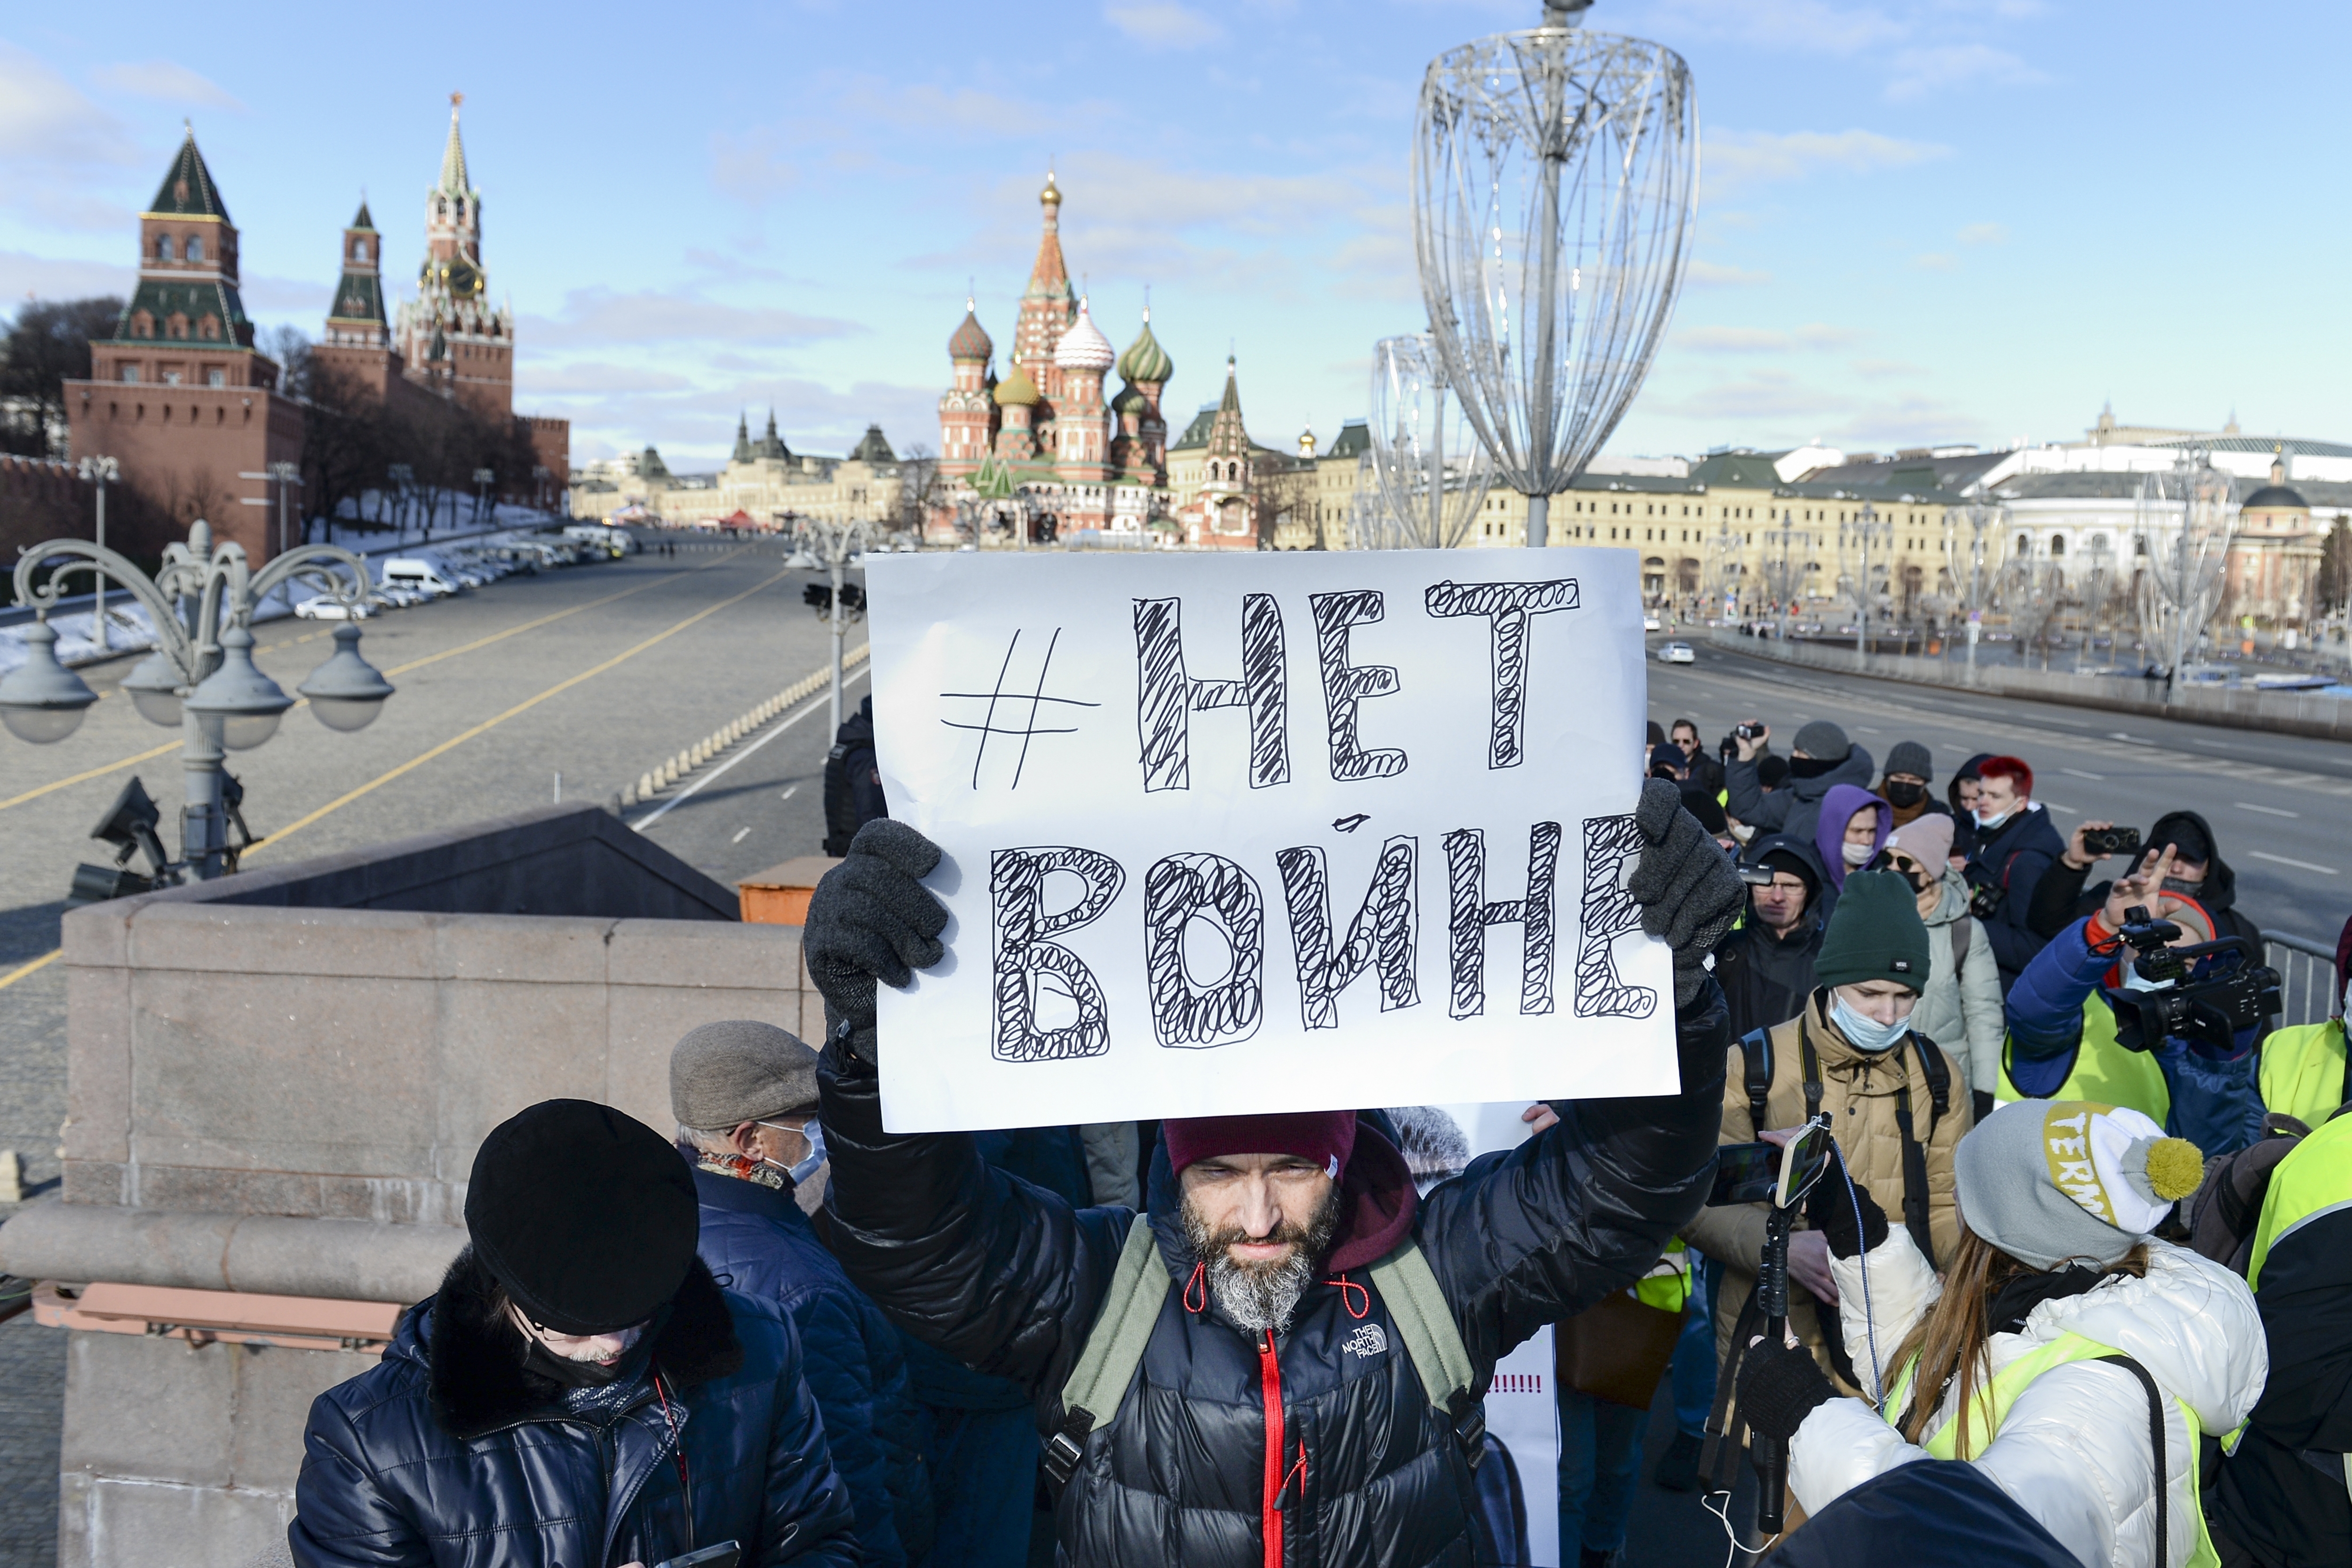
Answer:
[{"label": "largest wire goblet-shaped street decoration, rising above the sign", "polygon": [[1679,54],[1543,26],[1430,61],[1414,132],[1414,254],[1446,383],[1524,494],[1550,496],[1602,449],[1675,310],[1698,202],[1698,118]]}]

